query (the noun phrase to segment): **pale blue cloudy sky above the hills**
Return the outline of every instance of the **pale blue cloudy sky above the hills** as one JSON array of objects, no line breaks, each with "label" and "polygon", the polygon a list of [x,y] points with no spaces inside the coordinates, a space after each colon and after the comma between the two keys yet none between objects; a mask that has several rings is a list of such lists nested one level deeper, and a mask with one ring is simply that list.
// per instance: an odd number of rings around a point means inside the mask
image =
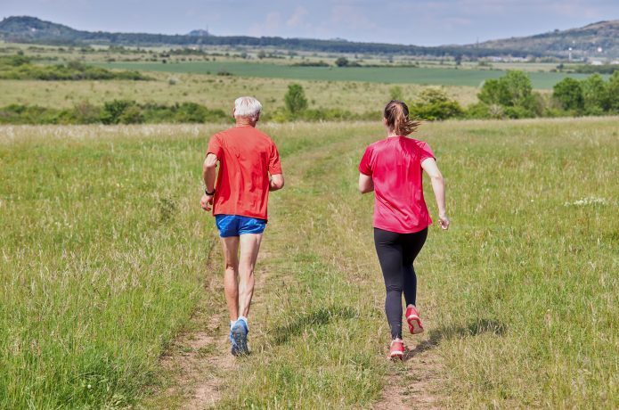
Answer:
[{"label": "pale blue cloudy sky above the hills", "polygon": [[0,18],[14,15],[83,30],[448,45],[619,20],[619,0],[0,0]]}]

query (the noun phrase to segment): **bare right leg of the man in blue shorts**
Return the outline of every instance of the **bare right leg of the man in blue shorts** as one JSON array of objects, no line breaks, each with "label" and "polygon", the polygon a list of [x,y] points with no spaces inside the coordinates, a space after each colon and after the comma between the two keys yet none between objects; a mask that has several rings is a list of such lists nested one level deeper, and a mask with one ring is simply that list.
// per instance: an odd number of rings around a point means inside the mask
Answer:
[{"label": "bare right leg of the man in blue shorts", "polygon": [[[249,305],[254,295],[254,267],[260,250],[262,234],[240,235],[239,260],[239,313],[247,317]],[[236,318],[235,318],[236,319]]]}]

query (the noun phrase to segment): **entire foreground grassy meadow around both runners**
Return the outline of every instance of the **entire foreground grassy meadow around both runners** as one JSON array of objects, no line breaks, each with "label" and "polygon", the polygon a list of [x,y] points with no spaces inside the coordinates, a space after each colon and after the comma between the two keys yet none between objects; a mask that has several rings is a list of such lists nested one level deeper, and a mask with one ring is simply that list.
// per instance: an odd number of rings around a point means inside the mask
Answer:
[{"label": "entire foreground grassy meadow around both runners", "polygon": [[[405,336],[403,364],[385,359],[372,198],[356,192],[379,124],[260,126],[287,184],[257,266],[254,354],[232,363],[199,206],[223,126],[0,127],[0,408],[180,408],[204,386],[219,408],[617,407],[618,121],[419,129],[452,227],[431,226],[416,264],[428,332]],[[177,341],[197,332],[200,348]],[[176,353],[203,372],[164,365]]]}]

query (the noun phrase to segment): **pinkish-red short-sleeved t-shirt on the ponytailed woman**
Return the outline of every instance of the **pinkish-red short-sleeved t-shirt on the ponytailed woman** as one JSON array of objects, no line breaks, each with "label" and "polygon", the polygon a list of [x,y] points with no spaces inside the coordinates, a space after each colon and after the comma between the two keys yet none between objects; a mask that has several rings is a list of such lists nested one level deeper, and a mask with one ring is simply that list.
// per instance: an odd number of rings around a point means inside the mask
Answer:
[{"label": "pinkish-red short-sleeved t-shirt on the ponytailed woman", "polygon": [[374,227],[411,234],[432,223],[421,183],[421,162],[428,158],[434,158],[428,143],[405,136],[368,146],[359,172],[374,183]]}]

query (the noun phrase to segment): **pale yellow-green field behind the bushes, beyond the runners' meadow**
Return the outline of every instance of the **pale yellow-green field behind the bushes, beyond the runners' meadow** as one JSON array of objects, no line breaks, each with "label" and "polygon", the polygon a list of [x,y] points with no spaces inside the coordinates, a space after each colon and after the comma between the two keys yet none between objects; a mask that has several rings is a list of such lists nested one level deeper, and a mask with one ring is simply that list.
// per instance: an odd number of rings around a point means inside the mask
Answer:
[{"label": "pale yellow-green field behind the bushes, beyond the runners' meadow", "polygon": [[[265,112],[283,107],[289,79],[240,78],[183,73],[149,73],[155,81],[37,81],[0,80],[0,107],[12,103],[71,108],[88,101],[94,104],[114,99],[137,102],[198,102],[210,109],[232,111],[239,95],[251,94],[265,104]],[[170,80],[174,83],[170,84]],[[339,108],[354,113],[376,111],[390,99],[393,84],[354,81],[295,81],[305,89],[310,108]],[[426,87],[398,85],[406,101],[413,101]],[[462,105],[477,101],[478,90],[470,86],[447,86],[450,97]]]}]

